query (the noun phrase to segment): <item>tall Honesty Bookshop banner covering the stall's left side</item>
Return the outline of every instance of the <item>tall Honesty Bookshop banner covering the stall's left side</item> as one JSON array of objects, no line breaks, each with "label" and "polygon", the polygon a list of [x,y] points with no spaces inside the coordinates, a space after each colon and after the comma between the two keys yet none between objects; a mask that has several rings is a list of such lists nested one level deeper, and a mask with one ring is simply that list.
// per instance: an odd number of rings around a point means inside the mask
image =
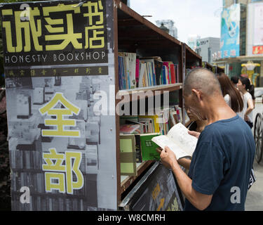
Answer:
[{"label": "tall Honesty Bookshop banner covering the stall's left side", "polygon": [[[0,7],[12,210],[116,210],[112,1]],[[115,103],[113,103],[115,105]]]}]

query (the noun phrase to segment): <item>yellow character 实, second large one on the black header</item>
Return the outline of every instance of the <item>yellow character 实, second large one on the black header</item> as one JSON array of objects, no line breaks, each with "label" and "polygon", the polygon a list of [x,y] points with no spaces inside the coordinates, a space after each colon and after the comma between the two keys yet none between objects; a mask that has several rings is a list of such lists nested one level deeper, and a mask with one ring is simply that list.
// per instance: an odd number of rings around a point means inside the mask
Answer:
[{"label": "yellow character \u5b9e, second large one on the black header", "polygon": [[[80,7],[76,6],[77,4],[59,4],[58,6],[43,7],[43,15],[45,16],[46,23],[48,23],[46,30],[50,33],[50,35],[45,36],[46,41],[62,41],[60,44],[47,44],[46,51],[63,50],[69,43],[72,43],[74,49],[82,49],[82,44],[78,41],[78,39],[82,38],[82,34],[74,33],[72,11],[80,13]],[[48,17],[50,13],[65,11],[69,11],[66,15],[67,23],[65,23],[64,19],[51,19]],[[58,27],[58,25],[60,26]],[[67,32],[65,32],[64,27],[67,27]]]}]

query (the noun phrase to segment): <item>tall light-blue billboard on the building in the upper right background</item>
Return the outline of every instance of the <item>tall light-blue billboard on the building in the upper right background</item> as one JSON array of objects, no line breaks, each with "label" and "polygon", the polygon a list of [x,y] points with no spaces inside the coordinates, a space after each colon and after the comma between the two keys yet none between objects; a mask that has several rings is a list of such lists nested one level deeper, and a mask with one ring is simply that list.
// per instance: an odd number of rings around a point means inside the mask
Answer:
[{"label": "tall light-blue billboard on the building in the upper right background", "polygon": [[233,4],[222,11],[220,58],[237,57],[240,54],[240,4]]}]

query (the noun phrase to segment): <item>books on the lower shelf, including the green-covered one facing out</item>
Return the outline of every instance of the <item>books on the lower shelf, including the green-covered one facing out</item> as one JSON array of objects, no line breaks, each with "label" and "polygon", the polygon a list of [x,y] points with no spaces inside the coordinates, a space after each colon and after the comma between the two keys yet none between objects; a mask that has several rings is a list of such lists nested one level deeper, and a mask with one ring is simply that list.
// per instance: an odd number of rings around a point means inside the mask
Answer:
[{"label": "books on the lower shelf, including the green-covered one facing out", "polygon": [[[175,105],[158,110],[157,115],[120,117],[121,175],[137,176],[136,163],[159,160],[156,136],[166,135],[175,125],[182,123],[182,108]],[[189,120],[186,114],[186,122]]]}]

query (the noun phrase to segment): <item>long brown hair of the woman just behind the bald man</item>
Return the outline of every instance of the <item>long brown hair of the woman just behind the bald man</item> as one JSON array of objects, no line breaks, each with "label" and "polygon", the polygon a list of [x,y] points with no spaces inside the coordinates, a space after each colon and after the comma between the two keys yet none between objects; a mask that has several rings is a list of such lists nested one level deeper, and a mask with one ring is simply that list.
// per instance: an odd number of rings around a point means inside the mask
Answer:
[{"label": "long brown hair of the woman just behind the bald man", "polygon": [[221,90],[223,96],[229,94],[231,109],[234,110],[235,113],[241,112],[244,107],[243,98],[236,89],[236,87],[231,83],[229,77],[221,72],[218,76],[218,81],[220,82]]}]

